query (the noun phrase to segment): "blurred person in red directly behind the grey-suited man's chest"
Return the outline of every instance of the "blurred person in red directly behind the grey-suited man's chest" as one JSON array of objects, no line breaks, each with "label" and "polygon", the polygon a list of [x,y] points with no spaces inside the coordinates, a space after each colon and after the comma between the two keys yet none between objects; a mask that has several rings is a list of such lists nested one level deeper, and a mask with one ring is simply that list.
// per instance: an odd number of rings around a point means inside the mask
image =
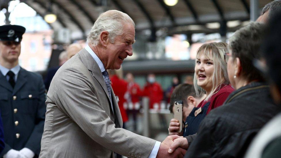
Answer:
[{"label": "blurred person in red directly behind the grey-suited man's chest", "polygon": [[118,96],[119,98],[118,105],[120,108],[120,112],[123,120],[123,128],[124,128],[124,124],[128,121],[127,113],[123,107],[123,104],[125,102],[124,95],[127,91],[127,82],[124,79],[118,77],[116,70],[108,70],[108,73],[109,73],[109,78],[111,80],[111,87],[115,95]]}]

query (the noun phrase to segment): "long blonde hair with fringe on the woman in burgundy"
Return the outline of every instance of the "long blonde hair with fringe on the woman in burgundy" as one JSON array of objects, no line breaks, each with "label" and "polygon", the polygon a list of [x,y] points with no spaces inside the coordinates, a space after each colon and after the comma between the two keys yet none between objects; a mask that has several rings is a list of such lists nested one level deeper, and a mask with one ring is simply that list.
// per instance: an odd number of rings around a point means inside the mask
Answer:
[{"label": "long blonde hair with fringe on the woman in burgundy", "polygon": [[[227,75],[227,64],[225,61],[225,53],[228,53],[227,43],[225,42],[211,42],[203,44],[196,53],[196,58],[204,53],[204,56],[214,62],[214,72],[212,76],[212,90],[208,96],[206,96],[205,101],[207,101],[213,94],[217,93],[217,89],[221,88],[221,84],[229,84],[229,78]],[[212,58],[211,58],[212,57]],[[195,61],[196,64],[196,61]],[[218,73],[221,72],[221,73]],[[222,81],[222,80],[223,81]],[[196,74],[194,72],[194,89],[196,95],[199,96],[198,84]],[[204,91],[202,91],[204,92]]]}]

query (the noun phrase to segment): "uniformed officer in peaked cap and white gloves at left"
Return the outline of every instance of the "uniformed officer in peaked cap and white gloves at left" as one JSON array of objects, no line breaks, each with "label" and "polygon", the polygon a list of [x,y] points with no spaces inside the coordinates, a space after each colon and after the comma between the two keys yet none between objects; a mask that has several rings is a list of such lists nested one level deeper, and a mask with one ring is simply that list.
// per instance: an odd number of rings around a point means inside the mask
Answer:
[{"label": "uniformed officer in peaked cap and white gloves at left", "polygon": [[38,157],[45,121],[45,87],[41,75],[18,65],[25,28],[0,26],[0,109],[5,149],[0,157]]}]

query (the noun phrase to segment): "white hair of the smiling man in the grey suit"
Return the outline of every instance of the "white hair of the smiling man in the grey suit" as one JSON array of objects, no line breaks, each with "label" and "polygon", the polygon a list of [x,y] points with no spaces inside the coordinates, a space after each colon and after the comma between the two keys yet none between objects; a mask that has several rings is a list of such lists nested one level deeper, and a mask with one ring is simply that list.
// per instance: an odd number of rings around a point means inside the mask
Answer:
[{"label": "white hair of the smiling man in the grey suit", "polygon": [[98,45],[100,40],[100,33],[107,31],[109,33],[109,40],[111,43],[115,42],[115,37],[123,33],[123,26],[126,23],[131,23],[135,26],[134,21],[128,14],[118,10],[109,10],[100,14],[96,22],[88,34],[87,42],[92,45]]}]

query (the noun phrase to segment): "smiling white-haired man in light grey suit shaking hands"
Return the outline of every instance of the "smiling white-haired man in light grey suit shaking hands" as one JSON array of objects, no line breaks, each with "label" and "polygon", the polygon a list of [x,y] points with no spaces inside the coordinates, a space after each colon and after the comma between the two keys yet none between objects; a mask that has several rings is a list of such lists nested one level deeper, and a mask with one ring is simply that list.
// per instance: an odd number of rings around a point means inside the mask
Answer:
[{"label": "smiling white-haired man in light grey suit shaking hands", "polygon": [[125,13],[101,14],[88,35],[88,46],[64,63],[47,94],[47,112],[39,157],[183,157],[169,154],[163,142],[122,127],[120,110],[107,69],[119,69],[132,56],[135,29]]}]

